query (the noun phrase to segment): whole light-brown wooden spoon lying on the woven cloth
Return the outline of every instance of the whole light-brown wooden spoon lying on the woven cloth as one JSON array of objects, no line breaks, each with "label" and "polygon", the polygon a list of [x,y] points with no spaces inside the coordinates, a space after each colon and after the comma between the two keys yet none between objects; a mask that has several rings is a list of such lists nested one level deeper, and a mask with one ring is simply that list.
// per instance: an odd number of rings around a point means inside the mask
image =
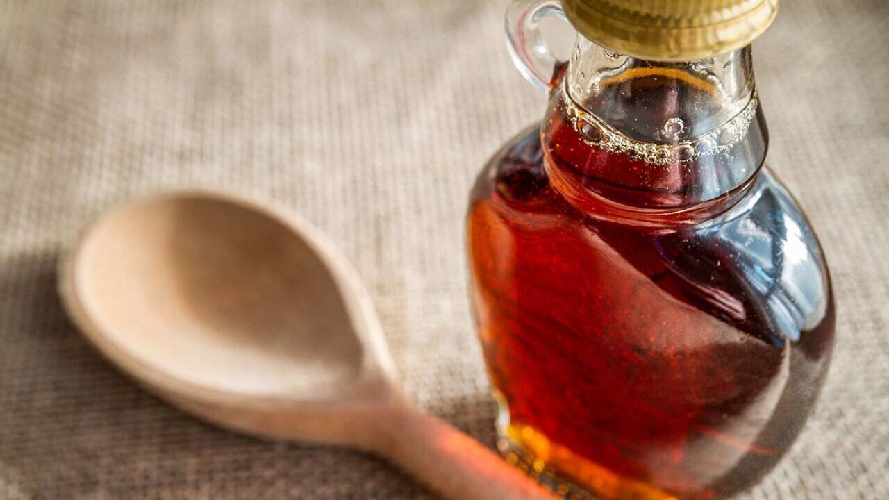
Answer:
[{"label": "whole light-brown wooden spoon lying on the woven cloth", "polygon": [[376,453],[453,500],[553,498],[404,398],[355,271],[292,215],[212,193],[121,206],[62,258],[60,293],[108,359],[212,423]]}]

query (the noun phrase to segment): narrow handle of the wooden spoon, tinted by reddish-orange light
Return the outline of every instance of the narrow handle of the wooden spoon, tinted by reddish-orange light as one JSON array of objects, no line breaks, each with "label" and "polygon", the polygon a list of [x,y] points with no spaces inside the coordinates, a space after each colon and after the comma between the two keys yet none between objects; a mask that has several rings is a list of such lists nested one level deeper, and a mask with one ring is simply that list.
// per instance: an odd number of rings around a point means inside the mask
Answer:
[{"label": "narrow handle of the wooden spoon, tinted by reddish-orange light", "polygon": [[553,500],[549,490],[476,440],[406,407],[388,423],[380,454],[449,500]]}]

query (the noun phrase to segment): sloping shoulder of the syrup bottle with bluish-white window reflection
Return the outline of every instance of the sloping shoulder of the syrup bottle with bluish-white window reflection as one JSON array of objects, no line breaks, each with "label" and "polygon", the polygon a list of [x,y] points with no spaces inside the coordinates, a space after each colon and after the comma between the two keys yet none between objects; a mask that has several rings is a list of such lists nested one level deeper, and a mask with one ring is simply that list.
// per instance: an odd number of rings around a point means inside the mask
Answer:
[{"label": "sloping shoulder of the syrup bottle with bluish-white window reflection", "polygon": [[821,246],[796,200],[767,168],[722,214],[645,228],[581,213],[550,187],[545,161],[536,126],[509,141],[479,175],[470,226],[484,216],[524,241],[572,241],[591,252],[607,247],[648,275],[661,273],[658,285],[677,298],[771,332],[764,339],[770,343],[797,342],[803,332],[827,323],[832,338],[833,302]]}]

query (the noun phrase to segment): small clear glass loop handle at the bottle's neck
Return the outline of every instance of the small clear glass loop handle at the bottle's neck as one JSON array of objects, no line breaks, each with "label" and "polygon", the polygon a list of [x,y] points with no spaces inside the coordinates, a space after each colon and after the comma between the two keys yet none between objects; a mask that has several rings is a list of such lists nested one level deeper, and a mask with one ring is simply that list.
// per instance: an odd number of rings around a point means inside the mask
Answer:
[{"label": "small clear glass loop handle at the bottle's neck", "polygon": [[509,55],[518,72],[535,87],[547,91],[553,71],[565,64],[549,50],[541,35],[541,20],[556,17],[567,21],[558,0],[516,0],[506,11]]}]

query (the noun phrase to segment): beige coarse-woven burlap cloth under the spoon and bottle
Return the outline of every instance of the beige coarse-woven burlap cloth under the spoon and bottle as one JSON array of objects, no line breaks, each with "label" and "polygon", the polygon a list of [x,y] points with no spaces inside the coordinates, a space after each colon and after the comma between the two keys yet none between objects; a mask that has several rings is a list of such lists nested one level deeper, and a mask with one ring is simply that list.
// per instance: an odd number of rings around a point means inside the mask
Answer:
[{"label": "beige coarse-woven burlap cloth under the spoon and bottle", "polygon": [[[407,391],[493,444],[463,214],[544,104],[509,62],[504,8],[0,2],[0,498],[433,497],[372,456],[200,423],[84,343],[55,293],[60,248],[171,188],[315,222],[370,288]],[[769,162],[821,236],[839,323],[804,435],[745,498],[889,498],[889,8],[781,11],[756,46]]]}]

